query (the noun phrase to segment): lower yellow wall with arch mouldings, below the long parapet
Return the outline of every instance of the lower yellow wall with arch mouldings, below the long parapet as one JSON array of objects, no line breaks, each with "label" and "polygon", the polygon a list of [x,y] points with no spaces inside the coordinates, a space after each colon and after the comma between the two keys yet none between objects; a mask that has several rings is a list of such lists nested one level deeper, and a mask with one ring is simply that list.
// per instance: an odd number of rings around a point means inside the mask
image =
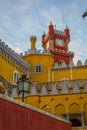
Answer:
[{"label": "lower yellow wall with arch mouldings, below the long parapet", "polygon": [[[21,98],[19,99],[21,101]],[[66,94],[49,96],[28,96],[25,103],[38,107],[44,111],[61,116],[66,113],[87,114],[87,94]],[[86,116],[87,120],[87,116]]]}]

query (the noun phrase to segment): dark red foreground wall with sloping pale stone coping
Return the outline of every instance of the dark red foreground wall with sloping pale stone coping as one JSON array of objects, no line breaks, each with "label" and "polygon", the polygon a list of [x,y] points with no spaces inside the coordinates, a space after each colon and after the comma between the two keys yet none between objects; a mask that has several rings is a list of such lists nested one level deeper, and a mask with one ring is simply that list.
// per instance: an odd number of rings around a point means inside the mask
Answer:
[{"label": "dark red foreground wall with sloping pale stone coping", "polygon": [[71,130],[67,120],[0,95],[0,130]]}]

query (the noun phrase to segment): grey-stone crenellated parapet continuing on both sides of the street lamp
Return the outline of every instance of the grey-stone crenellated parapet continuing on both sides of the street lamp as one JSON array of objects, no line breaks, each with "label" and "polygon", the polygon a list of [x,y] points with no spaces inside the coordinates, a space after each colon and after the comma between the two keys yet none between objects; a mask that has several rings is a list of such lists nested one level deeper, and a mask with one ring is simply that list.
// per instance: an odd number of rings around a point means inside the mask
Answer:
[{"label": "grey-stone crenellated parapet continuing on both sides of the street lamp", "polygon": [[[6,89],[6,87],[5,87]],[[39,83],[33,82],[29,87],[26,96],[51,96],[51,95],[69,95],[87,93],[87,79],[82,80],[62,80],[58,82]],[[18,88],[7,88],[5,94],[14,98],[22,97],[22,93],[18,93]]]}]

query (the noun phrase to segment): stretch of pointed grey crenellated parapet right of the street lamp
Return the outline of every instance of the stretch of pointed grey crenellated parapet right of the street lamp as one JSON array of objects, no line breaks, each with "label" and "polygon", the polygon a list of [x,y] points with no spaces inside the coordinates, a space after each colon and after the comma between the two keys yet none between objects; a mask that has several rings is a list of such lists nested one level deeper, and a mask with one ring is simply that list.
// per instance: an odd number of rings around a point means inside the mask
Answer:
[{"label": "stretch of pointed grey crenellated parapet right of the street lamp", "polygon": [[30,95],[63,95],[87,92],[87,79],[31,84]]}]

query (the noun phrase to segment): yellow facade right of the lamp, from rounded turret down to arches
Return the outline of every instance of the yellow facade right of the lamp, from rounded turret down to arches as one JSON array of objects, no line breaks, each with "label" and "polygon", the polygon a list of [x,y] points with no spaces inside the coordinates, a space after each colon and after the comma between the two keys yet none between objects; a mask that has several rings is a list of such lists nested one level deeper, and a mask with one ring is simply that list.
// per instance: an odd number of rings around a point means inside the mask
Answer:
[{"label": "yellow facade right of the lamp, from rounded turret down to arches", "polygon": [[[32,43],[31,43],[32,44]],[[73,126],[87,125],[87,65],[54,68],[52,54],[27,54],[30,63],[31,96],[25,102],[68,119]],[[35,67],[41,65],[41,72]],[[32,93],[33,92],[33,93]],[[76,122],[76,124],[75,124]],[[86,128],[85,128],[86,129]]]}]

